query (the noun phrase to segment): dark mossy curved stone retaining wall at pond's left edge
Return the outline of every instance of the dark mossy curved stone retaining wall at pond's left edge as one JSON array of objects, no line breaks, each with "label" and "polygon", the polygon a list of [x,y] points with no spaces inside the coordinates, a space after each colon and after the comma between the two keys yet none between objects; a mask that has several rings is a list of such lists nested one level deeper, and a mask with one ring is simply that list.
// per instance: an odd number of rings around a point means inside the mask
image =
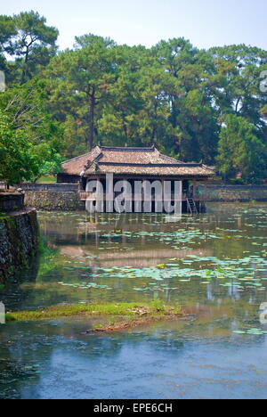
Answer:
[{"label": "dark mossy curved stone retaining wall at pond's left edge", "polygon": [[0,215],[0,282],[26,268],[38,248],[36,210]]}]

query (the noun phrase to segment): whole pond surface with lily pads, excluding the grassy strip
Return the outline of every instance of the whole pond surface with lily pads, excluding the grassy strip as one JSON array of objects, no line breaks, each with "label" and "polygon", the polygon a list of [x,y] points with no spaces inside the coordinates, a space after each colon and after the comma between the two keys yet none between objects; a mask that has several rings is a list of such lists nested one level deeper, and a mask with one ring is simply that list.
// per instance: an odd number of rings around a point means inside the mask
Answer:
[{"label": "whole pond surface with lily pads, excluding the grassy strip", "polygon": [[179,303],[187,315],[84,335],[92,320],[0,326],[0,398],[266,398],[267,205],[206,215],[39,213],[48,247],[0,291],[7,309]]}]

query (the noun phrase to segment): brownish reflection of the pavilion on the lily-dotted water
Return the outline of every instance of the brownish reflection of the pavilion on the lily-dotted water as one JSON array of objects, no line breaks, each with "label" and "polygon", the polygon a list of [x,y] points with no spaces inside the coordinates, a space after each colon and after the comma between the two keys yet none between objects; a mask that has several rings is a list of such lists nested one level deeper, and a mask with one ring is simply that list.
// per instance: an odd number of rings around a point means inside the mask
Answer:
[{"label": "brownish reflection of the pavilion on the lily-dotted water", "polygon": [[[72,227],[63,223],[43,222],[42,233],[56,248],[61,250],[61,255],[79,259],[88,266],[112,267],[112,266],[136,266],[150,267],[166,261],[168,258],[187,258],[189,255],[196,257],[212,256],[212,249],[172,249],[164,242],[151,241],[148,235],[140,235],[138,240],[133,240],[135,233],[172,233],[179,225],[176,217],[157,217],[140,215],[131,217],[114,215],[101,217],[88,216],[80,224]],[[158,225],[150,225],[161,220]],[[106,220],[105,225],[101,221]],[[175,221],[173,224],[172,222]],[[182,225],[185,228],[186,225]],[[116,233],[117,232],[117,233]],[[105,244],[103,245],[103,241]],[[136,246],[138,244],[138,246]],[[107,248],[105,248],[107,246]],[[105,248],[105,250],[100,250]],[[133,247],[133,248],[129,248]],[[110,248],[110,249],[109,249]]]}]

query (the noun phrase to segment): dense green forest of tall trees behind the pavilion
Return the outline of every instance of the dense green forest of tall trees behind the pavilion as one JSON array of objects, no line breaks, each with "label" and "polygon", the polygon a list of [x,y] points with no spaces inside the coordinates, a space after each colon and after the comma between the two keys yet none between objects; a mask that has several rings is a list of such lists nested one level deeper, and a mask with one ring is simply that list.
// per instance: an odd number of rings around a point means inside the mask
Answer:
[{"label": "dense green forest of tall trees behind the pavilion", "polygon": [[225,180],[267,178],[267,51],[93,35],[59,51],[58,36],[37,12],[0,16],[0,179],[54,174],[96,144],[155,144]]}]

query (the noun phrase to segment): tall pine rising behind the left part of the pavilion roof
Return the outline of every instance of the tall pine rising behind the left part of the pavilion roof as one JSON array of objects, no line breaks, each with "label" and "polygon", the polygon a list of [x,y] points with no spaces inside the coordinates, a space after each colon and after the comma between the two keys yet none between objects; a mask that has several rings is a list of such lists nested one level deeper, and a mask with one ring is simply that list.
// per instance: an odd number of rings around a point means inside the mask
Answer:
[{"label": "tall pine rising behind the left part of the pavilion roof", "polygon": [[53,79],[51,105],[63,126],[74,122],[78,133],[82,125],[80,135],[91,150],[99,107],[109,100],[109,85],[115,77],[111,52],[114,46],[93,35],[76,40],[74,51],[60,53],[48,67],[47,75]]}]

